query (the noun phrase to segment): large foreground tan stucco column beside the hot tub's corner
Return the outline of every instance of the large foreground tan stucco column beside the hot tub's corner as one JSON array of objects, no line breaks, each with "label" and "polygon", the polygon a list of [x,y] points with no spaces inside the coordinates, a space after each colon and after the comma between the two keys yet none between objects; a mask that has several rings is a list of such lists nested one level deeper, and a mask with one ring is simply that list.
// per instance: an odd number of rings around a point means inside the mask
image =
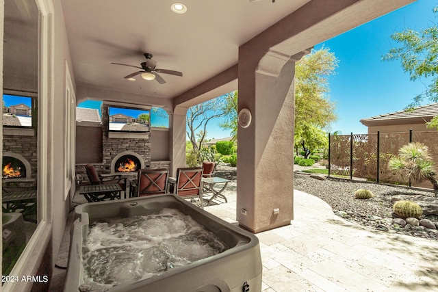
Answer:
[{"label": "large foreground tan stucco column beside the hot tub's corner", "polygon": [[[258,233],[294,218],[294,74],[291,57],[268,51],[239,56],[239,111],[253,121],[238,129],[237,221]],[[256,130],[257,129],[257,130]]]}]

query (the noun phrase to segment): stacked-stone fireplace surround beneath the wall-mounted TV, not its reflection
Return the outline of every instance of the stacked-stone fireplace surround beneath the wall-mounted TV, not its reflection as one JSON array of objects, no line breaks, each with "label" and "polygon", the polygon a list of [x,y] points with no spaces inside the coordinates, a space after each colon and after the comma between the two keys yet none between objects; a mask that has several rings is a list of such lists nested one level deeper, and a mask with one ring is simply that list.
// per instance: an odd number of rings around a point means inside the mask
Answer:
[{"label": "stacked-stone fireplace surround beneath the wall-mounted TV, not its reflection", "polygon": [[111,162],[120,152],[131,151],[136,152],[144,160],[145,165],[151,163],[151,133],[149,138],[136,138],[136,133],[132,133],[127,138],[109,138],[108,137],[108,122],[109,110],[108,106],[102,104],[102,163],[104,172],[114,172],[111,170]]}]

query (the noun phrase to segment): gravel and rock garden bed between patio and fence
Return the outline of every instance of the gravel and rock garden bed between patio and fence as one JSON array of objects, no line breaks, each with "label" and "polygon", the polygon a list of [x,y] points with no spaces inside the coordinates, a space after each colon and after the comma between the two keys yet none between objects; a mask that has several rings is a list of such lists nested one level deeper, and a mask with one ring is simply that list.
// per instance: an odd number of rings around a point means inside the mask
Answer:
[{"label": "gravel and rock garden bed between patio and fence", "polygon": [[[346,220],[392,233],[403,233],[438,240],[436,230],[428,230],[422,228],[423,226],[410,226],[410,224],[407,228],[402,228],[392,224],[392,206],[394,203],[391,202],[391,196],[420,194],[433,197],[432,192],[375,183],[358,183],[336,178],[327,178],[325,181],[320,181],[311,178],[307,174],[299,173],[294,173],[294,189],[321,198],[332,207],[334,213]],[[357,189],[369,189],[374,194],[374,198],[368,200],[355,199]],[[422,215],[421,219],[438,222],[438,217],[433,215]]]}]

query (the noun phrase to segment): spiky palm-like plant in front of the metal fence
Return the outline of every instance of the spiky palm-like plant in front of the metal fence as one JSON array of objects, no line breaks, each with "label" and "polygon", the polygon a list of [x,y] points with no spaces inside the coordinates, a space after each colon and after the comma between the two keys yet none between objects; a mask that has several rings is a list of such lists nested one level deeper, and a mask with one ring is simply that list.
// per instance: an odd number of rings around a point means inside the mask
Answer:
[{"label": "spiky palm-like plant in front of the metal fence", "polygon": [[388,165],[389,168],[398,170],[404,178],[413,183],[430,181],[433,184],[435,197],[438,197],[437,172],[433,168],[433,159],[426,145],[415,142],[403,146],[398,150],[398,156],[389,160]]}]

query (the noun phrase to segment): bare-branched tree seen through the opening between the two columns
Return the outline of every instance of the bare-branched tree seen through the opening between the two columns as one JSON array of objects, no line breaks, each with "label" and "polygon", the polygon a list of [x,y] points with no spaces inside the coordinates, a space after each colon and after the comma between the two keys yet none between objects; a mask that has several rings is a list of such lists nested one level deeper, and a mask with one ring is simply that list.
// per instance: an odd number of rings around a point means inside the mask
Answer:
[{"label": "bare-branched tree seen through the opening between the two columns", "polygon": [[222,98],[214,98],[190,107],[187,111],[187,135],[193,150],[199,152],[207,135],[207,124],[210,120],[224,116]]}]

